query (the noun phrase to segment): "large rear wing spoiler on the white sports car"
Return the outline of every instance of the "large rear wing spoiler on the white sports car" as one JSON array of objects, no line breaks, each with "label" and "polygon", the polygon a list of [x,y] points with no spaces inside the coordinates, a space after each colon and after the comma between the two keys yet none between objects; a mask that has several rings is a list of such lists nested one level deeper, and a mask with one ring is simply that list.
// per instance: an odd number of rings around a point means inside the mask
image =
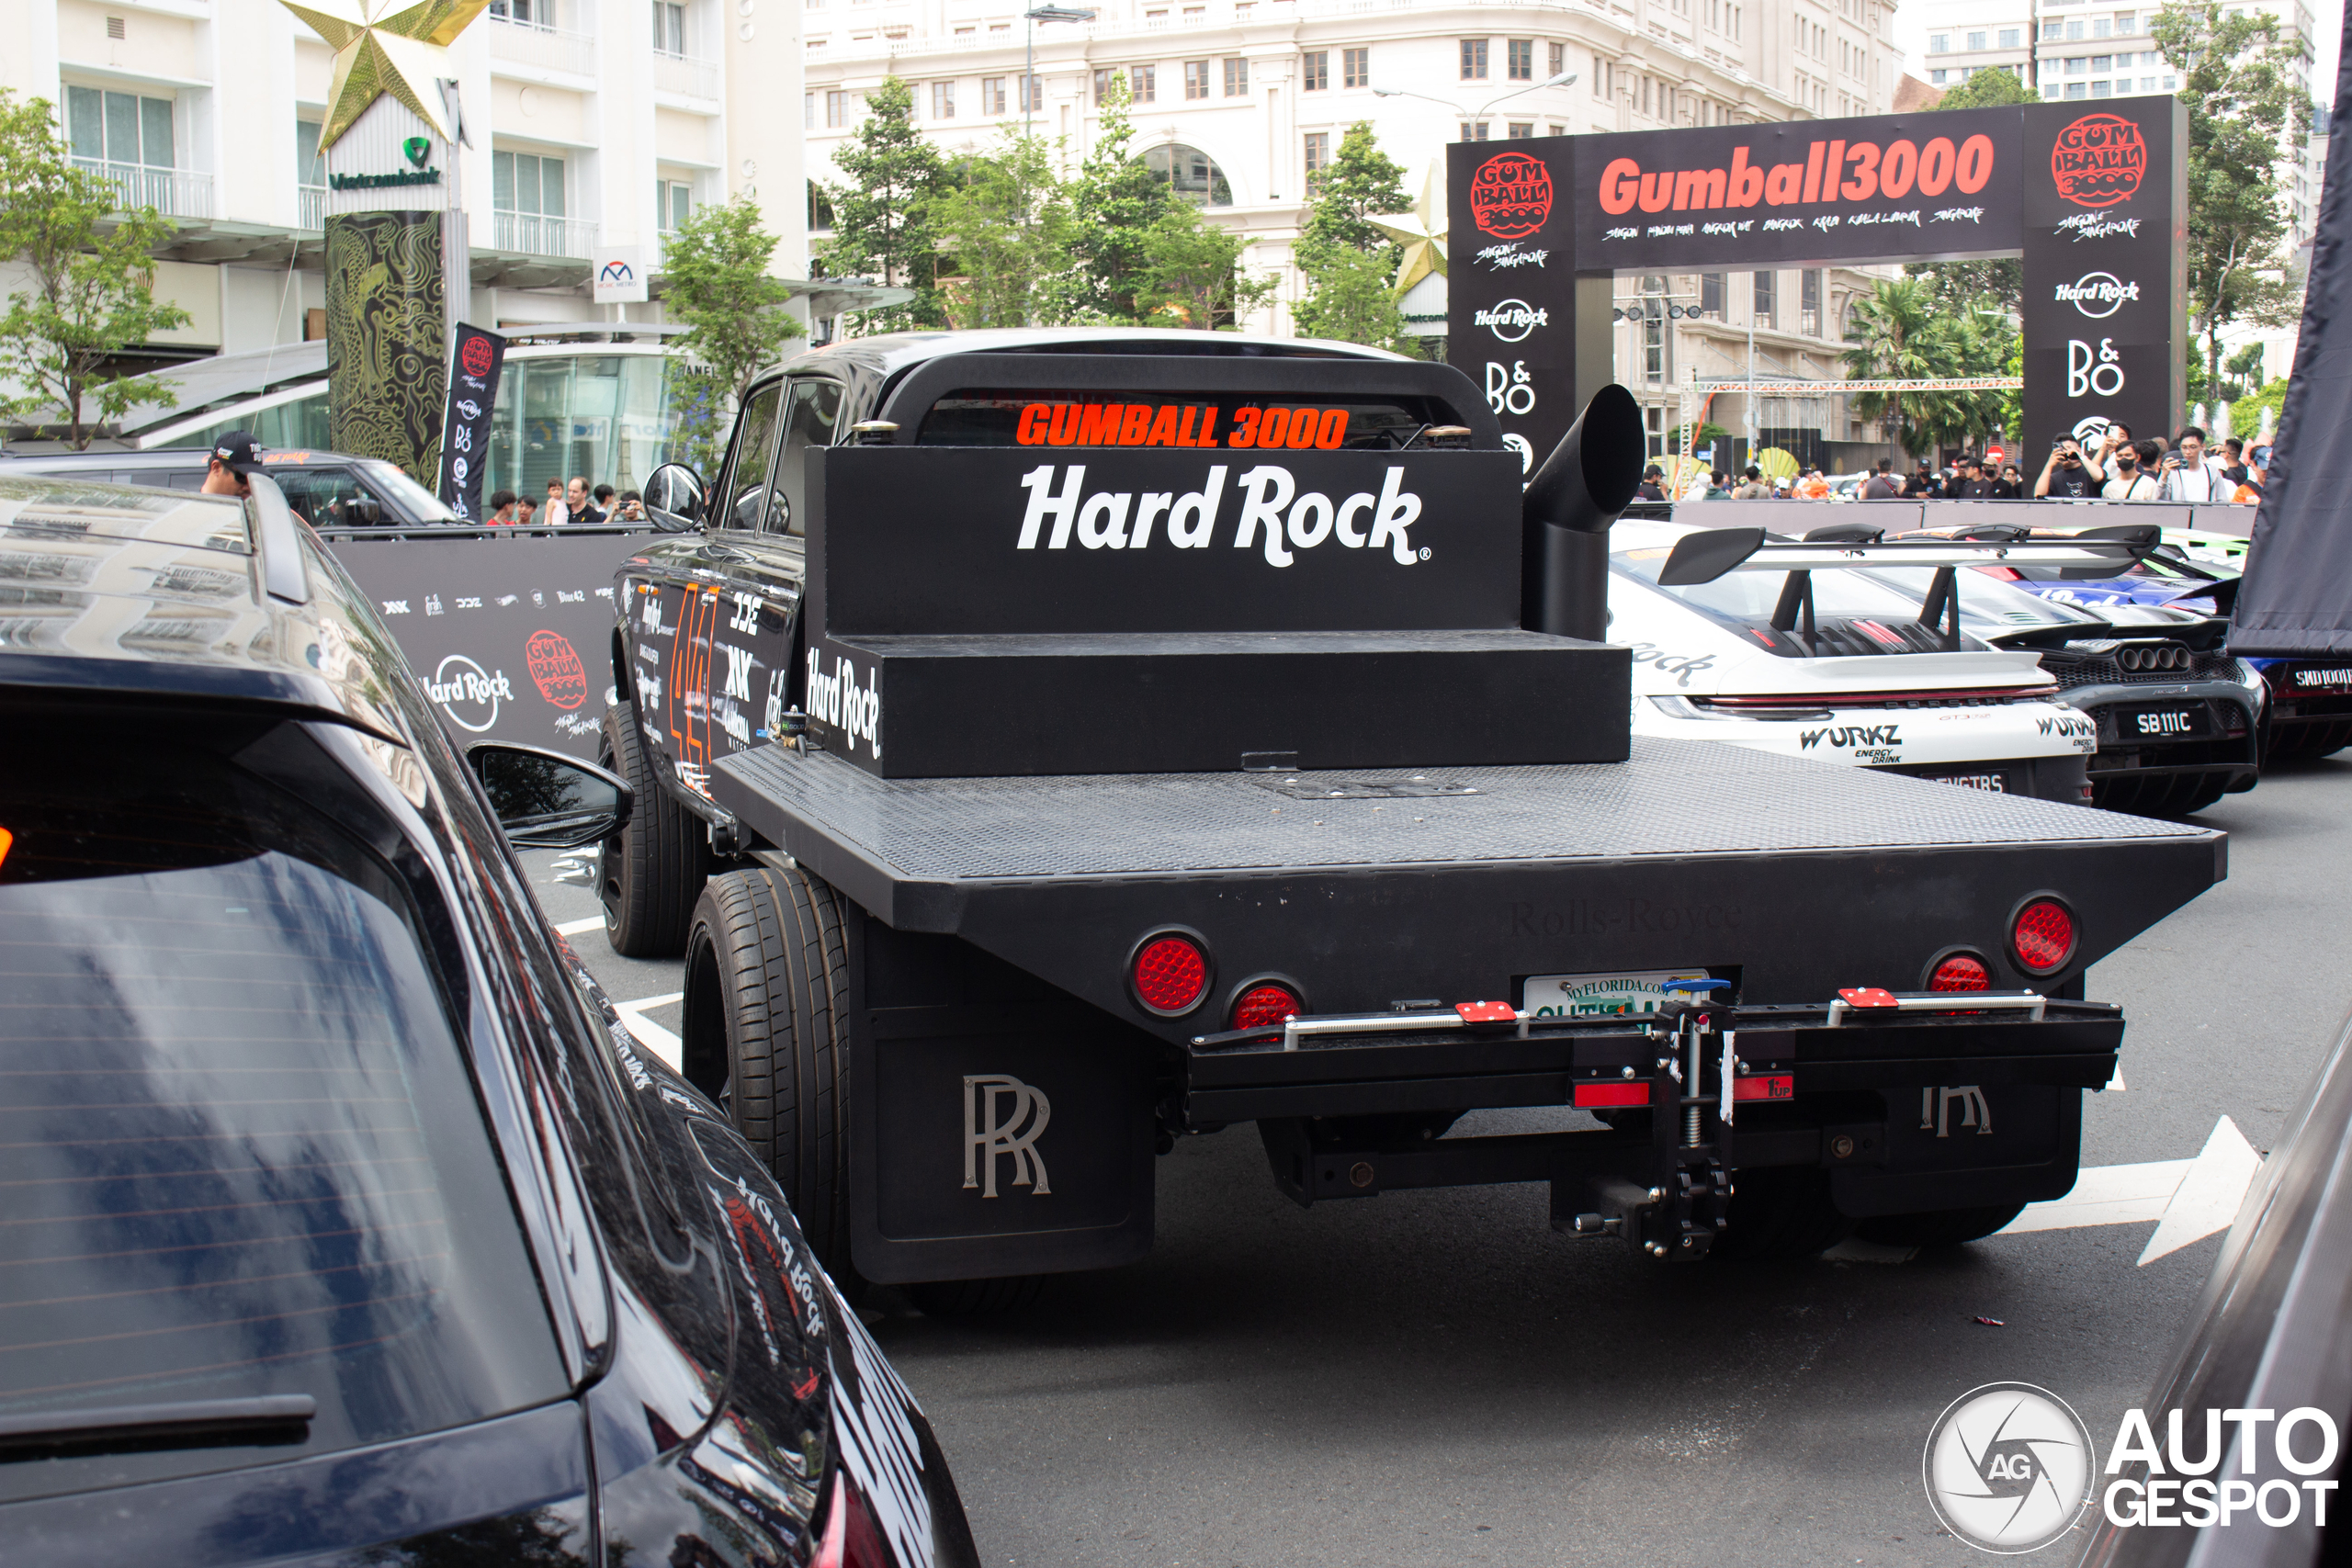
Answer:
[{"label": "large rear wing spoiler on the white sports car", "polygon": [[[1853,538],[1851,524],[1820,529],[1820,538],[1771,538],[1764,529],[1708,529],[1684,534],[1658,569],[1661,588],[1712,583],[1733,571],[1785,571],[1788,585],[1771,623],[1813,646],[1813,574],[1837,567],[1926,567],[1919,623],[1940,628],[1943,646],[1959,651],[1962,567],[2096,567],[2122,574],[2157,548],[2154,527],[2100,529],[2103,538]],[[2122,536],[2122,538],[2117,538]]]}]

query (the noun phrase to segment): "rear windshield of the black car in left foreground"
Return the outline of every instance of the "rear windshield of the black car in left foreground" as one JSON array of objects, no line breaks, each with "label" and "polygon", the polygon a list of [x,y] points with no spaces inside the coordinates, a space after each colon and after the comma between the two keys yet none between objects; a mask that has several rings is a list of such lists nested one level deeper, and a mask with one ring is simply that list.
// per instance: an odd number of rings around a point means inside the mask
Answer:
[{"label": "rear windshield of the black car in left foreground", "polygon": [[143,757],[0,766],[0,1418],[275,1394],[318,1415],[280,1446],[0,1448],[0,1497],[562,1396],[402,889],[252,776]]}]

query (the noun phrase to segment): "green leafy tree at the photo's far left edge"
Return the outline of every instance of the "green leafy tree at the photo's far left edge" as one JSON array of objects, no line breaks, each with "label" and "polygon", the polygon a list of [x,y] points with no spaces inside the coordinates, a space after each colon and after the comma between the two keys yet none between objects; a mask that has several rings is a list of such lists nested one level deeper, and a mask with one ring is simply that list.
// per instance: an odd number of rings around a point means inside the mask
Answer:
[{"label": "green leafy tree at the photo's far left edge", "polygon": [[118,371],[125,348],[186,327],[188,313],[155,301],[155,247],[172,223],[153,207],[115,212],[115,200],[113,183],[73,167],[47,99],[0,87],[0,261],[31,282],[0,315],[0,381],[26,388],[0,397],[0,416],[56,407],[78,451],[99,435],[85,409],[103,423],[179,402],[162,376]]}]

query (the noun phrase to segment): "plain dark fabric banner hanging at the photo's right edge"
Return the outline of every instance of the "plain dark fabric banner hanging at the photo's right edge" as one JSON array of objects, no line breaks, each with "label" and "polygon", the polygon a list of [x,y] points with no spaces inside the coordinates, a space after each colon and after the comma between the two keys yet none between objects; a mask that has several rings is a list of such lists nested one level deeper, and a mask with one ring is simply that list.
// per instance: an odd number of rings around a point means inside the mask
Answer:
[{"label": "plain dark fabric banner hanging at the photo's right edge", "polygon": [[[2352,2],[2345,5],[2352,28]],[[2336,101],[2352,92],[2352,49],[2336,66]],[[2352,320],[2338,306],[2352,289],[2352,136],[2328,141],[2319,228],[2303,289],[2303,334],[2286,383],[2279,444],[2253,522],[2246,588],[2237,599],[2230,651],[2249,656],[2352,654]],[[2296,475],[2312,475],[2296,484]]]}]

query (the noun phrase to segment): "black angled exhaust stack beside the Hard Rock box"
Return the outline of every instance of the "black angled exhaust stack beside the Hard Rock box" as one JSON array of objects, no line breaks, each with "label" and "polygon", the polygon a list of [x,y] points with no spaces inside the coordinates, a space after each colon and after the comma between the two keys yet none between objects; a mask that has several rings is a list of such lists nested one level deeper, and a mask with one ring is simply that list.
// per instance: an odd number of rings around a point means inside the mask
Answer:
[{"label": "black angled exhaust stack beside the Hard Rock box", "polygon": [[1609,635],[1609,524],[1642,487],[1642,407],[1609,383],[1526,482],[1519,515],[1519,625],[1555,637]]}]

